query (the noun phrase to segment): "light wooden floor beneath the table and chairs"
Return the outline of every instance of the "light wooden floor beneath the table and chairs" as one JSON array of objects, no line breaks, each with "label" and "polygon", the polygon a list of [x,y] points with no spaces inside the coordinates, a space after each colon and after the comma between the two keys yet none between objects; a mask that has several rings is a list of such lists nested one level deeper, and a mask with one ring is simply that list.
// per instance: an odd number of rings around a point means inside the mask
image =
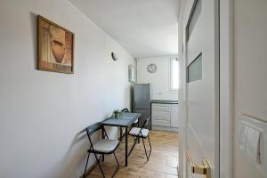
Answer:
[{"label": "light wooden floor beneath the table and chairs", "polygon": [[[132,147],[134,139],[128,137],[129,150]],[[148,143],[147,140],[145,140]],[[151,131],[150,142],[152,145],[152,153],[150,160],[147,162],[142,142],[137,144],[128,158],[128,166],[125,167],[125,141],[120,143],[116,151],[116,155],[120,164],[120,168],[115,178],[177,178],[178,166],[178,134],[173,132]],[[146,144],[149,148],[149,144]],[[116,169],[116,160],[113,155],[105,157],[105,161],[101,162],[104,173],[107,178]],[[95,166],[86,178],[101,178],[101,171]]]}]

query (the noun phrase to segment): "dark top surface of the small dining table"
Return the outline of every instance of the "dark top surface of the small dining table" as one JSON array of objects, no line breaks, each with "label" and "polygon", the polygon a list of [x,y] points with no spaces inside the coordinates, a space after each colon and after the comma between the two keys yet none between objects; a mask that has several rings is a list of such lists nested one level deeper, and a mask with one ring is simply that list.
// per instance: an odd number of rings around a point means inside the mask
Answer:
[{"label": "dark top surface of the small dining table", "polygon": [[131,126],[134,124],[134,121],[141,116],[141,113],[122,113],[120,117],[109,117],[102,121],[101,124],[110,126]]}]

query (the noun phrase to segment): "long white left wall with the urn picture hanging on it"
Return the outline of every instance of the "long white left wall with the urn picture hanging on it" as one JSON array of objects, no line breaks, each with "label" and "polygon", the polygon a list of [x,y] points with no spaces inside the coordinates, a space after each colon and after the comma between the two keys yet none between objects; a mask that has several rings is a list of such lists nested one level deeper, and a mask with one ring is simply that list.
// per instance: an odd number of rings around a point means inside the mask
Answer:
[{"label": "long white left wall with the urn picture hanging on it", "polygon": [[[74,75],[36,70],[37,14],[75,33]],[[0,177],[80,176],[85,126],[130,107],[133,56],[67,0],[1,0],[0,22]]]}]

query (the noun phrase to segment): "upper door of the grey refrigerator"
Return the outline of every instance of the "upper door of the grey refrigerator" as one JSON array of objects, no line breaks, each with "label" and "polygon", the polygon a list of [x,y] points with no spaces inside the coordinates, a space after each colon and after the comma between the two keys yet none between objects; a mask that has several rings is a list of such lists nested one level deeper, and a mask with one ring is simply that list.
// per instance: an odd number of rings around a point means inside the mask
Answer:
[{"label": "upper door of the grey refrigerator", "polygon": [[150,84],[134,85],[134,108],[150,109]]}]

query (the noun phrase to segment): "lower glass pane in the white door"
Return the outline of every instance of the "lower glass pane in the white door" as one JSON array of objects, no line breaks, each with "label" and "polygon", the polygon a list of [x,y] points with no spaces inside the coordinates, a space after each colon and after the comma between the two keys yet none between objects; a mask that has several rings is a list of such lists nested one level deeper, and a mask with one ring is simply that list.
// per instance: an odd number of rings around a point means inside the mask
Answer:
[{"label": "lower glass pane in the white door", "polygon": [[187,82],[193,82],[202,79],[202,53],[190,63],[187,67]]}]

